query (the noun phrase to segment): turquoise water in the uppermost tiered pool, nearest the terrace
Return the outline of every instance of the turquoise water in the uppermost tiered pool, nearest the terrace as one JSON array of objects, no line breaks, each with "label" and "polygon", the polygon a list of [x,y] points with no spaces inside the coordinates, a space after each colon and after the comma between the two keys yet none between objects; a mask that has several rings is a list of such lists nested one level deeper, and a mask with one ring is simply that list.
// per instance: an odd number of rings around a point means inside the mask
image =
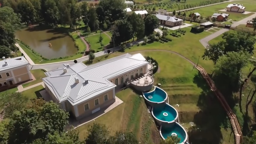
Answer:
[{"label": "turquoise water in the uppermost tiered pool, nearest the terrace", "polygon": [[155,91],[152,91],[150,93],[144,93],[144,96],[151,102],[162,102],[166,99],[167,94],[165,93],[165,91],[156,87]]}]

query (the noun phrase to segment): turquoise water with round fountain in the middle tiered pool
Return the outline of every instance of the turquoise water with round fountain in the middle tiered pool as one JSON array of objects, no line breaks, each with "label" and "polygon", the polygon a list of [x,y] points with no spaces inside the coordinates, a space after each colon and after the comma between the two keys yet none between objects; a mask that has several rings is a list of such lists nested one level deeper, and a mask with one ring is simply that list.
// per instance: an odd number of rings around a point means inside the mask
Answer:
[{"label": "turquoise water with round fountain in the middle tiered pool", "polygon": [[177,116],[176,110],[167,104],[165,104],[165,107],[161,108],[154,107],[153,114],[162,121],[173,121]]}]

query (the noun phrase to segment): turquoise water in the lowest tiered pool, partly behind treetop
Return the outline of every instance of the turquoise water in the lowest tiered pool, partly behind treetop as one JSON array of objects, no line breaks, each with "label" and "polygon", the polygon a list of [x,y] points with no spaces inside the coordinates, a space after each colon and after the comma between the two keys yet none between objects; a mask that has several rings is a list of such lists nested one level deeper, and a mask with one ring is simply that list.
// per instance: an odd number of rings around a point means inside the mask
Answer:
[{"label": "turquoise water in the lowest tiered pool, partly behind treetop", "polygon": [[161,133],[165,139],[167,137],[170,137],[172,133],[176,133],[177,137],[180,138],[179,143],[182,143],[186,139],[186,132],[178,124],[175,124],[172,128],[168,128],[168,129],[165,129],[164,127],[162,127]]}]

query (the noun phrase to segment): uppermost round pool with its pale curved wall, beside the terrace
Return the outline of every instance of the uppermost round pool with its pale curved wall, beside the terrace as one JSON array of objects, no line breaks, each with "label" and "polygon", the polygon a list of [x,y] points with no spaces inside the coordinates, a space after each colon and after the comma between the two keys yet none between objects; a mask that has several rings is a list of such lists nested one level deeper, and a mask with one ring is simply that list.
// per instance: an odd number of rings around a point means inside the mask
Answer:
[{"label": "uppermost round pool with its pale curved wall, beside the terrace", "polygon": [[[148,96],[152,96],[152,98],[148,98]],[[151,107],[160,107],[159,104],[165,104],[167,100],[167,93],[162,90],[162,88],[159,88],[157,86],[154,86],[154,89],[150,92],[143,93],[144,99],[146,99],[146,102]],[[164,105],[162,105],[164,106]]]}]

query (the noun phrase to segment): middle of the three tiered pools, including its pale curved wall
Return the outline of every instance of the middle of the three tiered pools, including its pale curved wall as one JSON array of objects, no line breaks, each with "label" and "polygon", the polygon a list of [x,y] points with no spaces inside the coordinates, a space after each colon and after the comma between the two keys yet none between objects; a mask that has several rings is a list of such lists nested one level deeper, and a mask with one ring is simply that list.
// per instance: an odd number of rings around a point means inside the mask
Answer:
[{"label": "middle of the three tiered pools, including its pale curved wall", "polygon": [[165,103],[161,107],[152,107],[151,114],[157,124],[164,127],[172,127],[178,119],[178,111],[171,105]]}]

